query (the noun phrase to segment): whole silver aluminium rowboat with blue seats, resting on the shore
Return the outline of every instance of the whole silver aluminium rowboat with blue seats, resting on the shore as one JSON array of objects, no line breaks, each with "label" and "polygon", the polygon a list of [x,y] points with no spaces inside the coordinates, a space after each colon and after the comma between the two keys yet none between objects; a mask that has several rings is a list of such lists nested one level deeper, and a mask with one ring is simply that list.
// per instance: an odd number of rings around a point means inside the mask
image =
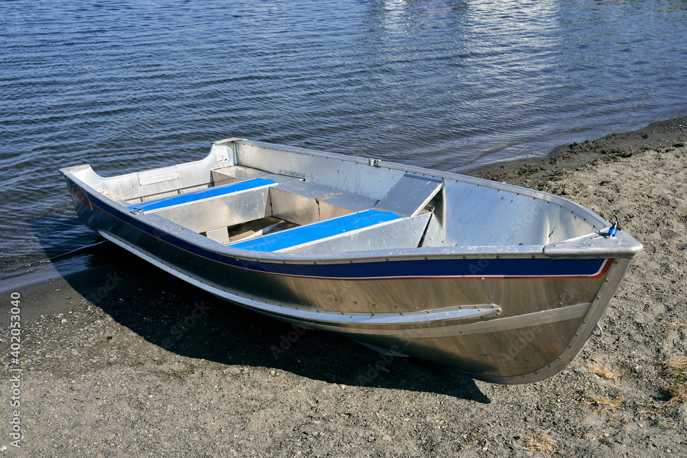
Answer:
[{"label": "whole silver aluminium rowboat with blue seats, resting on the shore", "polygon": [[60,171],[85,225],[185,282],[495,383],[570,363],[642,249],[559,196],[245,139],[155,170]]}]

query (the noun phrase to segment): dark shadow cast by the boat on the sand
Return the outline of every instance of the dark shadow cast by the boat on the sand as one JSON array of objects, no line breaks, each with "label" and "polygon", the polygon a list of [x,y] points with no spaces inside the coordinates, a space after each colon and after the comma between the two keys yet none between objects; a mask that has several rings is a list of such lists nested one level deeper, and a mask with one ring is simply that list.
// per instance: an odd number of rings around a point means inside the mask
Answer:
[{"label": "dark shadow cast by the boat on the sand", "polygon": [[[181,356],[282,369],[339,385],[491,402],[473,378],[458,371],[387,356],[335,334],[263,317],[186,284],[110,242],[80,251],[78,262],[59,253],[47,255],[91,304],[146,341]],[[82,268],[75,271],[79,262]]]}]

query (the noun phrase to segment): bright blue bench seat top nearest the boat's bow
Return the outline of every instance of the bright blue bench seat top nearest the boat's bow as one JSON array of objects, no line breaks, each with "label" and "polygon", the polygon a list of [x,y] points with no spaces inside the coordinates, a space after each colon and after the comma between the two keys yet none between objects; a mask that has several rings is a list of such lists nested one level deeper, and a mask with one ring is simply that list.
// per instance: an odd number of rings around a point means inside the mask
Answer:
[{"label": "bright blue bench seat top nearest the boat's bow", "polygon": [[286,229],[286,231],[245,240],[230,246],[251,251],[286,251],[299,245],[327,238],[335,238],[353,231],[401,219],[403,219],[401,216],[391,211],[368,209],[330,220],[314,222],[310,225]]}]

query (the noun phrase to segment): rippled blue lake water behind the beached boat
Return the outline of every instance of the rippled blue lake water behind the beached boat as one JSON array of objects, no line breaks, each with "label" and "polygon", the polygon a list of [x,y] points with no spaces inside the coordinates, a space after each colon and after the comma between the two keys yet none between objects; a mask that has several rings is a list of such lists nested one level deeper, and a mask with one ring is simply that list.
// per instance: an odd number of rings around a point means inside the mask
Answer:
[{"label": "rippled blue lake water behind the beached boat", "polygon": [[0,1],[0,279],[100,240],[66,165],[236,136],[460,172],[686,113],[685,1]]}]

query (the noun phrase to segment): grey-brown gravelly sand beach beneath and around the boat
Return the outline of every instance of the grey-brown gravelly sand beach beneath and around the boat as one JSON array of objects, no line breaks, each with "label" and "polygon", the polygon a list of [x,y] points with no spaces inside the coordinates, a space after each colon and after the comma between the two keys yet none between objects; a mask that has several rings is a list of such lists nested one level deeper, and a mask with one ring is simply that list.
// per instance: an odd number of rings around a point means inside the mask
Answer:
[{"label": "grey-brown gravelly sand beach beneath and around the boat", "polygon": [[376,354],[111,246],[86,271],[0,285],[0,453],[687,456],[686,144],[687,118],[672,119],[471,172],[618,216],[644,244],[602,336],[548,380],[492,385]]}]

